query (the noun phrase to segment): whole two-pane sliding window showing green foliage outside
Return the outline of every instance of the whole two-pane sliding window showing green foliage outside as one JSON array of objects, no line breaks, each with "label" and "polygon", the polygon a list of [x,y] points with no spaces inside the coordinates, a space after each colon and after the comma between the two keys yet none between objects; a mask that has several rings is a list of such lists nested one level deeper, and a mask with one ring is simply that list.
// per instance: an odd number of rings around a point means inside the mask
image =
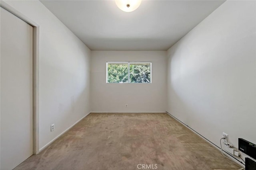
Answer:
[{"label": "whole two-pane sliding window showing green foliage outside", "polygon": [[151,83],[151,63],[107,63],[107,83]]}]

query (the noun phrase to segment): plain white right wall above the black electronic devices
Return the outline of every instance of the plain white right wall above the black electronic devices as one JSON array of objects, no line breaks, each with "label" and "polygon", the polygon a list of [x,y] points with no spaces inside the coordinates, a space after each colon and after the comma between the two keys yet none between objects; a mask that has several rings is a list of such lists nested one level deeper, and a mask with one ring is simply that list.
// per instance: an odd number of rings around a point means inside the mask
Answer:
[{"label": "plain white right wall above the black electronic devices", "polygon": [[256,1],[226,1],[168,50],[168,109],[220,146],[256,143]]}]

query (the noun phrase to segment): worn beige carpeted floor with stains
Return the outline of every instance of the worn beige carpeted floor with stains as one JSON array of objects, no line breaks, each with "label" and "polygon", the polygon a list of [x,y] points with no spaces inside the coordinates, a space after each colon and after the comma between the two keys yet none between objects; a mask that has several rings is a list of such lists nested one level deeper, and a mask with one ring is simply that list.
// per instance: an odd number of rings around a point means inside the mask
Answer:
[{"label": "worn beige carpeted floor with stains", "polygon": [[138,170],[149,166],[157,170],[241,168],[167,113],[91,113],[15,170]]}]

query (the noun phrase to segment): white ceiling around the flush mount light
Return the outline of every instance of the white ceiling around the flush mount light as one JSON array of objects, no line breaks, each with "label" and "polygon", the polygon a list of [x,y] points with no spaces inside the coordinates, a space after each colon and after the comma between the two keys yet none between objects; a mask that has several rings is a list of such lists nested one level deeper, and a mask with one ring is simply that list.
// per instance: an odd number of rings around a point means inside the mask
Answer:
[{"label": "white ceiling around the flush mount light", "polygon": [[41,0],[91,50],[167,50],[224,0],[142,0],[123,12],[114,0]]}]

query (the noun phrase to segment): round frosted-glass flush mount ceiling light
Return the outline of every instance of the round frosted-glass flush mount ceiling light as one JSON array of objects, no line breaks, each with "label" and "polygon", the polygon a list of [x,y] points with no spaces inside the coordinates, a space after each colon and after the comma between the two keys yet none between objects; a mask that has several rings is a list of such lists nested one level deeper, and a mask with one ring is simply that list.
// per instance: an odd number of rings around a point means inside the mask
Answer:
[{"label": "round frosted-glass flush mount ceiling light", "polygon": [[141,0],[116,0],[116,5],[122,11],[132,12],[140,6]]}]

